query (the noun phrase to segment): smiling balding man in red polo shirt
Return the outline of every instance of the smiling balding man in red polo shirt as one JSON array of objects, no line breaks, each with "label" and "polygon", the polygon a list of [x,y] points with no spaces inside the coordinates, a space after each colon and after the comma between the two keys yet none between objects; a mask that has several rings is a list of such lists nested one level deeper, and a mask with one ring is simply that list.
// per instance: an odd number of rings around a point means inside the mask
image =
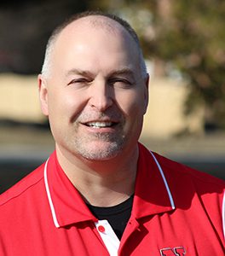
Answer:
[{"label": "smiling balding man in red polo shirt", "polygon": [[55,152],[1,196],[1,255],[224,255],[224,182],[138,143],[148,75],[124,20],[58,27],[38,84]]}]

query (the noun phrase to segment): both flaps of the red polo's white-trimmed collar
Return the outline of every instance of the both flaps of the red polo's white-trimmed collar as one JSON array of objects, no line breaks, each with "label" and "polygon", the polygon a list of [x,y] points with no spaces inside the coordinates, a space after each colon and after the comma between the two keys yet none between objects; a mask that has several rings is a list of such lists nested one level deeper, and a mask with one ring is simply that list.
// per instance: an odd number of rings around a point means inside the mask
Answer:
[{"label": "both flaps of the red polo's white-trimmed collar", "polygon": [[[131,216],[142,218],[174,210],[170,188],[155,154],[139,144],[136,189]],[[50,155],[44,166],[44,183],[49,206],[57,228],[97,219],[89,211],[78,190],[72,185],[57,160]]]}]

